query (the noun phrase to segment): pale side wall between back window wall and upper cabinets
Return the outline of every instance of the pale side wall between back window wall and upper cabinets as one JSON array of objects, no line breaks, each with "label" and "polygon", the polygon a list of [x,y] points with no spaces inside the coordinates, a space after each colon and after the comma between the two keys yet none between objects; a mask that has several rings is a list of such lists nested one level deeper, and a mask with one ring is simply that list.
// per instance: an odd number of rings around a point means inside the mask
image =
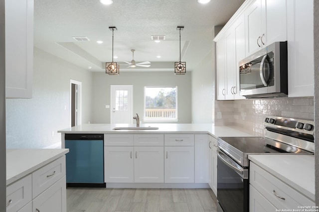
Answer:
[{"label": "pale side wall between back window wall and upper cabinets", "polygon": [[215,74],[213,58],[215,51],[211,50],[192,71],[192,122],[213,123]]}]

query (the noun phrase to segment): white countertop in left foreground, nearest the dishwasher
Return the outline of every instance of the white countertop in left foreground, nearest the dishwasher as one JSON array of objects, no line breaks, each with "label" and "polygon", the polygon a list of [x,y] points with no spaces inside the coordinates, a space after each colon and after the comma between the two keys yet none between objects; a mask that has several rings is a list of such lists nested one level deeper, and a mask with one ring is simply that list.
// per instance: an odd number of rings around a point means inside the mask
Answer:
[{"label": "white countertop in left foreground, nearest the dishwasher", "polygon": [[69,149],[6,149],[6,185],[68,152]]}]

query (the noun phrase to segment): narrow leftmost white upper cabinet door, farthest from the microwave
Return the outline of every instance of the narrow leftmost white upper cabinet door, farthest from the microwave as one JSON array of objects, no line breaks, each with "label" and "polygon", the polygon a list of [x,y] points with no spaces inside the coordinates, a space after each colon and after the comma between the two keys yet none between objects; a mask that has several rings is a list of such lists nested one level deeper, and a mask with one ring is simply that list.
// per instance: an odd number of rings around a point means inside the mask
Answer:
[{"label": "narrow leftmost white upper cabinet door, farthest from the microwave", "polygon": [[225,86],[226,86],[225,85],[225,79],[226,79],[225,55],[226,55],[225,39],[222,38],[216,43],[217,100],[225,100]]}]

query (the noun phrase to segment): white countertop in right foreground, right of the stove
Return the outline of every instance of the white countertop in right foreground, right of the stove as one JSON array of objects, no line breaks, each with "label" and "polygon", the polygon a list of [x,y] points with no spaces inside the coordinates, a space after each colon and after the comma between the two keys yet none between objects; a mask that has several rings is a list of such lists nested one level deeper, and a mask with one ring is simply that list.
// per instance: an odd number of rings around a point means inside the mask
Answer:
[{"label": "white countertop in right foreground, right of the stove", "polygon": [[315,201],[315,155],[248,155],[248,159]]}]

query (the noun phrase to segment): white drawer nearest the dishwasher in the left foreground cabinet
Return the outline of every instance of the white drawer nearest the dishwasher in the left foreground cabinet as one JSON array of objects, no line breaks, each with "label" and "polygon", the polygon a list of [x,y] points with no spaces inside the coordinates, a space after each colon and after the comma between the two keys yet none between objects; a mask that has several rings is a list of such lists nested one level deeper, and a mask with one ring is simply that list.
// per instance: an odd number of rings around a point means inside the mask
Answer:
[{"label": "white drawer nearest the dishwasher in the left foreground cabinet", "polygon": [[65,156],[32,173],[32,198],[65,176]]}]

